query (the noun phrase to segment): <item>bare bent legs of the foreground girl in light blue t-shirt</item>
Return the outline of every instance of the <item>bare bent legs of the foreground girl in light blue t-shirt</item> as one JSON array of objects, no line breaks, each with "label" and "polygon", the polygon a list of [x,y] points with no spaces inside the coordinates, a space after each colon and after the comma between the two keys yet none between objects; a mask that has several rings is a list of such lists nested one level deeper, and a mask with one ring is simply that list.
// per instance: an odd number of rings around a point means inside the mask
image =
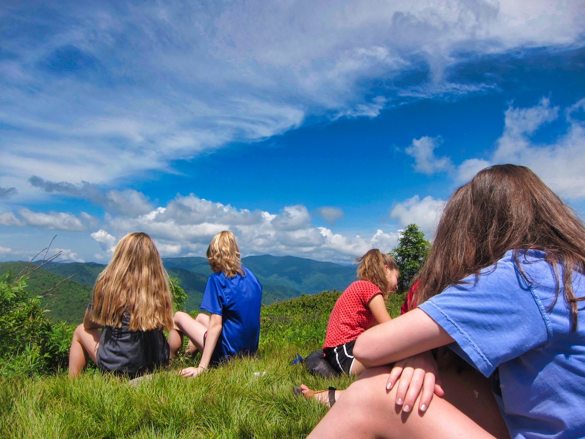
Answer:
[{"label": "bare bent legs of the foreground girl in light blue t-shirt", "polygon": [[509,437],[495,400],[488,392],[488,381],[477,378],[473,372],[456,375],[453,368],[441,371],[445,398],[433,398],[425,413],[405,413],[401,406],[395,405],[398,386],[386,390],[388,373],[387,366],[364,372],[309,438]]}]

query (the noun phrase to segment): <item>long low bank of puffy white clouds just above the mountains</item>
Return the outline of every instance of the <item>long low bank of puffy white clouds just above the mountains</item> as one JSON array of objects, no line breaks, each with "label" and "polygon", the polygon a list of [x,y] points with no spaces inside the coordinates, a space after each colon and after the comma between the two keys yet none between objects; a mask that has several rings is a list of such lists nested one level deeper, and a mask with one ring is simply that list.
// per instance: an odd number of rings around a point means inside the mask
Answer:
[{"label": "long low bank of puffy white clouds just above the mountains", "polygon": [[[341,212],[333,210],[335,217]],[[147,214],[108,216],[104,228],[91,234],[102,251],[111,253],[115,236],[144,231],[156,241],[163,256],[201,256],[211,238],[222,230],[234,232],[243,255],[294,255],[347,263],[376,247],[388,252],[399,234],[378,229],[371,236],[344,235],[311,225],[304,205],[284,207],[273,214],[249,211],[198,198],[177,195],[164,207]],[[105,259],[103,255],[97,255]]]}]

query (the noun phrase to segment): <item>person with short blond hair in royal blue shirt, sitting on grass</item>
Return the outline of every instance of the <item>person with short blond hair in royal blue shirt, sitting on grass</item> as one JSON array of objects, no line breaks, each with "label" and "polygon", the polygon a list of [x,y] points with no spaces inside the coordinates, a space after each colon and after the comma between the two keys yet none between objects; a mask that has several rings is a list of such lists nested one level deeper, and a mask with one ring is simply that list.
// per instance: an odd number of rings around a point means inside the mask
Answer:
[{"label": "person with short blond hair in royal blue shirt, sitting on grass", "polygon": [[174,323],[178,332],[169,336],[171,351],[183,346],[183,334],[190,339],[194,354],[200,351],[197,367],[183,369],[183,376],[195,376],[209,366],[228,361],[236,355],[253,355],[260,337],[262,286],[256,276],[242,266],[240,250],[232,232],[219,232],[209,243],[207,259],[213,274],[209,276],[201,308],[211,315],[192,318],[178,311]]}]

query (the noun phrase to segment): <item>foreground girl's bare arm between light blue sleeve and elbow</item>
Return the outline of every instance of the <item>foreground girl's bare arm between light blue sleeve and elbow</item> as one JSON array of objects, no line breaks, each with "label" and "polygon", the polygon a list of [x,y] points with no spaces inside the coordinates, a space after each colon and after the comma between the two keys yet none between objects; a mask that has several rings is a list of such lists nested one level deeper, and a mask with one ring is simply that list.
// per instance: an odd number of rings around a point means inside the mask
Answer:
[{"label": "foreground girl's bare arm between light blue sleeve and elbow", "polygon": [[381,366],[453,342],[424,311],[415,309],[360,335],[353,355],[366,368]]}]

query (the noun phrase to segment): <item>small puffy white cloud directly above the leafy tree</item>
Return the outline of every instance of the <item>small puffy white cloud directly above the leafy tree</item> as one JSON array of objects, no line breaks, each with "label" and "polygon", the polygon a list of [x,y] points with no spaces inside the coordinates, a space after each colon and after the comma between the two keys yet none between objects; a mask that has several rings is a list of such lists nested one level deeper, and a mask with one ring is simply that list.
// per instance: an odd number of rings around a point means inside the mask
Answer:
[{"label": "small puffy white cloud directly above the leafy tree", "polygon": [[444,207],[443,200],[435,200],[431,196],[426,196],[421,200],[418,195],[415,195],[395,205],[390,212],[390,218],[398,219],[402,227],[412,223],[417,224],[426,236],[433,236]]}]

